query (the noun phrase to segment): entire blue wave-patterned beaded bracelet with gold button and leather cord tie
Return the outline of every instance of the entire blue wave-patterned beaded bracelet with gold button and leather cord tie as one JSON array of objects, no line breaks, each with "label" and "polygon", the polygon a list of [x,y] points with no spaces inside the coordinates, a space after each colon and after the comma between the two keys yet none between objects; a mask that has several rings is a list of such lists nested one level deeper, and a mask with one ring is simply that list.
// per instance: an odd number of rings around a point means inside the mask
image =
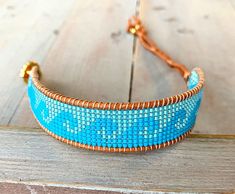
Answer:
[{"label": "entire blue wave-patterned beaded bracelet with gold button and leather cord tie", "polygon": [[39,65],[29,62],[21,70],[28,82],[32,112],[39,125],[67,144],[106,152],[159,149],[186,137],[193,128],[203,93],[204,74],[191,72],[162,52],[134,17],[128,32],[143,46],[176,68],[187,83],[182,94],[148,102],[95,102],[66,97],[46,88],[39,80]]}]

